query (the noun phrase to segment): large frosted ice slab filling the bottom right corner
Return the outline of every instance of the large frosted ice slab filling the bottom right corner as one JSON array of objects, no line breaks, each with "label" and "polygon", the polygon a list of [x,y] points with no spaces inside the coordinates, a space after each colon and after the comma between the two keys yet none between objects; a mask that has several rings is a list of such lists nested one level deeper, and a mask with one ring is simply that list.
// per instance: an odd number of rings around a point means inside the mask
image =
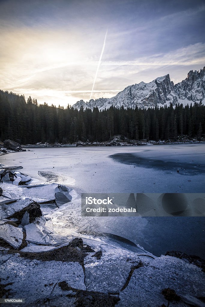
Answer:
[{"label": "large frosted ice slab filling the bottom right corner", "polygon": [[[194,285],[194,286],[193,286]],[[148,266],[134,270],[128,285],[120,292],[117,306],[162,306],[168,301],[162,295],[164,288],[175,290],[182,300],[173,302],[175,306],[187,306],[183,297],[204,297],[204,273],[201,268],[171,256],[162,255],[154,259]],[[143,293],[143,295],[142,295]],[[189,302],[190,303],[190,302]],[[195,304],[193,306],[203,306]]]}]

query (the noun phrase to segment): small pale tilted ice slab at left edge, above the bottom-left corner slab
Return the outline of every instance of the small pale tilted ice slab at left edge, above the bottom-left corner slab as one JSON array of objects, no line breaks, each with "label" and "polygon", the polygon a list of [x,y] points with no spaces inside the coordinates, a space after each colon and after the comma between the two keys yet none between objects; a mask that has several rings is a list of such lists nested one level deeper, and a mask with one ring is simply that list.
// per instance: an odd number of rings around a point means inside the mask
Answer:
[{"label": "small pale tilted ice slab at left edge, above the bottom-left corner slab", "polygon": [[16,249],[22,244],[23,232],[21,228],[4,223],[0,225],[0,238]]}]

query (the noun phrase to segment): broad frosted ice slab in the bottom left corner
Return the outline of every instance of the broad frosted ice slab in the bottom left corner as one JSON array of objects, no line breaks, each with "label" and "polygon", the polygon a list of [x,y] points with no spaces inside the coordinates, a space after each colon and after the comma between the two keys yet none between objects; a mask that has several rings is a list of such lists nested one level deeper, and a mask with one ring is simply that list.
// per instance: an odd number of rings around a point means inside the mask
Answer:
[{"label": "broad frosted ice slab in the bottom left corner", "polygon": [[[1,283],[12,283],[9,285],[12,297],[26,297],[26,306],[33,306],[37,301],[43,299],[45,301],[47,298],[49,301],[53,297],[60,299],[62,294],[66,294],[57,284],[60,281],[66,281],[73,288],[85,290],[84,273],[78,262],[39,261],[36,259],[28,261],[18,255],[12,255],[2,265],[0,278]],[[37,303],[37,305],[39,304]],[[40,305],[45,304],[40,303]],[[57,306],[62,305],[57,304]],[[69,304],[68,297],[66,297],[65,306],[73,306],[73,304]]]}]

